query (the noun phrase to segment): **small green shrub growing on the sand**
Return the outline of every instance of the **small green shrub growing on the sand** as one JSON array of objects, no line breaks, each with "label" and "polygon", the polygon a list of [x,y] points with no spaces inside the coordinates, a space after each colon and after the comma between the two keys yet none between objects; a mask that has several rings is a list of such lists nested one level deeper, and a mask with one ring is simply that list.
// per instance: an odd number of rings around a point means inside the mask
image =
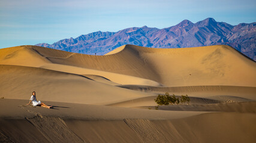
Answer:
[{"label": "small green shrub growing on the sand", "polygon": [[187,102],[189,104],[190,99],[188,95],[181,95],[181,98],[179,99],[174,94],[172,96],[169,95],[168,92],[165,92],[165,95],[158,95],[156,99],[154,100],[158,105],[174,105],[174,104],[185,104]]}]

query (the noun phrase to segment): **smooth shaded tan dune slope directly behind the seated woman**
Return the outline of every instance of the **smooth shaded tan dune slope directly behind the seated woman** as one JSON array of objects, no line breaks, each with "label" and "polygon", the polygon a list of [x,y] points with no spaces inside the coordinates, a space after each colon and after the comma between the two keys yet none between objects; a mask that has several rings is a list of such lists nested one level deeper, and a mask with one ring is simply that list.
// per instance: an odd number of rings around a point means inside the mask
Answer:
[{"label": "smooth shaded tan dune slope directly behind the seated woman", "polygon": [[[0,65],[1,97],[84,104],[110,104],[148,94],[95,82],[85,76],[35,67]],[[10,86],[11,85],[11,86]]]}]

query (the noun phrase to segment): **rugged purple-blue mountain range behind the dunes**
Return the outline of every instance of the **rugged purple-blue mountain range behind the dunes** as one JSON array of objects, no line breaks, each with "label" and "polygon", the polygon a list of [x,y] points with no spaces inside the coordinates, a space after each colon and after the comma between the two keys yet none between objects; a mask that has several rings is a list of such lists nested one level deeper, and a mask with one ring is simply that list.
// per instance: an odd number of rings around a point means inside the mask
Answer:
[{"label": "rugged purple-blue mountain range behind the dunes", "polygon": [[256,61],[256,22],[236,26],[217,22],[213,18],[192,23],[183,20],[176,26],[164,29],[131,27],[118,32],[94,32],[77,38],[63,39],[52,45],[37,46],[61,49],[82,54],[104,55],[122,45],[138,45],[151,48],[188,48],[209,45],[230,45]]}]

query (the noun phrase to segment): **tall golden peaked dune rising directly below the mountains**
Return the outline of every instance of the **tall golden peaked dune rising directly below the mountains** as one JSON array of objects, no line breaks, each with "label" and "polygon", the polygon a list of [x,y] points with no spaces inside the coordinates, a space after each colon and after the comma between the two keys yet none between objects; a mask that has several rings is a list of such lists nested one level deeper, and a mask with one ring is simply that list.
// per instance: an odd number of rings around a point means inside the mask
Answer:
[{"label": "tall golden peaked dune rising directly below the mountains", "polygon": [[[22,66],[65,64],[141,77],[165,86],[256,86],[256,63],[225,45],[179,49],[125,45],[103,56],[74,54],[39,46],[20,46],[1,51],[0,64],[20,65],[22,60]],[[21,51],[33,53],[40,64],[27,61]],[[11,60],[11,54],[16,55],[15,61]]]}]

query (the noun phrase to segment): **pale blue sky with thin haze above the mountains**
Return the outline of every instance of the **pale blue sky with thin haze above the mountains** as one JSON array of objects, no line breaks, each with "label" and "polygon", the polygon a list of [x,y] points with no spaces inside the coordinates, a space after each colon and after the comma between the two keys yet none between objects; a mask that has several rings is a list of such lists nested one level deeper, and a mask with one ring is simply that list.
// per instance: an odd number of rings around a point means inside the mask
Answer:
[{"label": "pale blue sky with thin haze above the mountains", "polygon": [[232,25],[256,21],[255,0],[0,0],[0,48],[50,43],[97,31],[174,26],[212,17]]}]

